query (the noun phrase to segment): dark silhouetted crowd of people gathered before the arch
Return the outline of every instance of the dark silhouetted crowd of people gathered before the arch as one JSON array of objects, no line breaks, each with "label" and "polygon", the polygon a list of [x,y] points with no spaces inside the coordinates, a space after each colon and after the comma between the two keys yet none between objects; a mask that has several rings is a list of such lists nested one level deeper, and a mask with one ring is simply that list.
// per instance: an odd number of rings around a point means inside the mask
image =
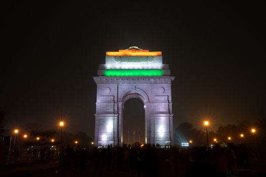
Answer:
[{"label": "dark silhouetted crowd of people gathered before the arch", "polygon": [[251,150],[243,145],[215,145],[213,148],[160,148],[146,144],[124,145],[123,147],[75,148],[61,147],[59,164],[61,168],[91,168],[97,171],[135,172],[144,175],[225,176],[237,174],[239,166],[251,163]]}]

